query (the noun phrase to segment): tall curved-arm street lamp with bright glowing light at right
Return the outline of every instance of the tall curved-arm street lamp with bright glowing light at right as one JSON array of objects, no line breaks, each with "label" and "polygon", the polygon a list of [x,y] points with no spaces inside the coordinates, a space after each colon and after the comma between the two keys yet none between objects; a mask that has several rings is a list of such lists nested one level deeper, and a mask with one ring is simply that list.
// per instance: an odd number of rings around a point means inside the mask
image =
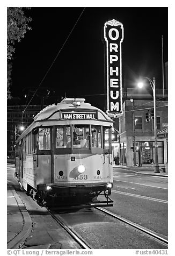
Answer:
[{"label": "tall curved-arm street lamp with bright glowing light at right", "polygon": [[[154,130],[155,130],[155,173],[159,173],[159,166],[158,166],[158,142],[157,142],[157,117],[156,117],[156,79],[153,77],[153,81],[146,76],[143,78],[147,79],[150,83],[150,86],[153,91],[153,98],[154,98]],[[138,87],[142,88],[143,83],[139,82]]]}]

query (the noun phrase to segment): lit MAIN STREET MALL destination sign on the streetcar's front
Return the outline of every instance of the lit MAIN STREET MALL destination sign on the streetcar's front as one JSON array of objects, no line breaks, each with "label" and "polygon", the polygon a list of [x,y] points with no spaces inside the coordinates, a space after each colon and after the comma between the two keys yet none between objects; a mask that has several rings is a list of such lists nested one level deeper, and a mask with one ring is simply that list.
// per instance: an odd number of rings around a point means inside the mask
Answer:
[{"label": "lit MAIN STREET MALL destination sign on the streetcar's front", "polygon": [[62,112],[61,119],[97,119],[97,112]]}]

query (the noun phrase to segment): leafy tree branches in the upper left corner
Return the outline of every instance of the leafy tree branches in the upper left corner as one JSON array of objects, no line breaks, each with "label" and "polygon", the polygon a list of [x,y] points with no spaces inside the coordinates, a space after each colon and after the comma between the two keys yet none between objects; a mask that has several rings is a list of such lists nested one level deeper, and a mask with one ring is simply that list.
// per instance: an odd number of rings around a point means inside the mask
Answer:
[{"label": "leafy tree branches in the upper left corner", "polygon": [[8,99],[11,98],[10,86],[11,86],[11,70],[12,70],[12,55],[15,52],[16,41],[20,42],[21,38],[24,38],[24,35],[27,30],[31,30],[31,27],[28,26],[28,23],[31,22],[31,17],[26,17],[24,14],[24,7],[8,7],[7,8],[7,40],[8,40]]}]

